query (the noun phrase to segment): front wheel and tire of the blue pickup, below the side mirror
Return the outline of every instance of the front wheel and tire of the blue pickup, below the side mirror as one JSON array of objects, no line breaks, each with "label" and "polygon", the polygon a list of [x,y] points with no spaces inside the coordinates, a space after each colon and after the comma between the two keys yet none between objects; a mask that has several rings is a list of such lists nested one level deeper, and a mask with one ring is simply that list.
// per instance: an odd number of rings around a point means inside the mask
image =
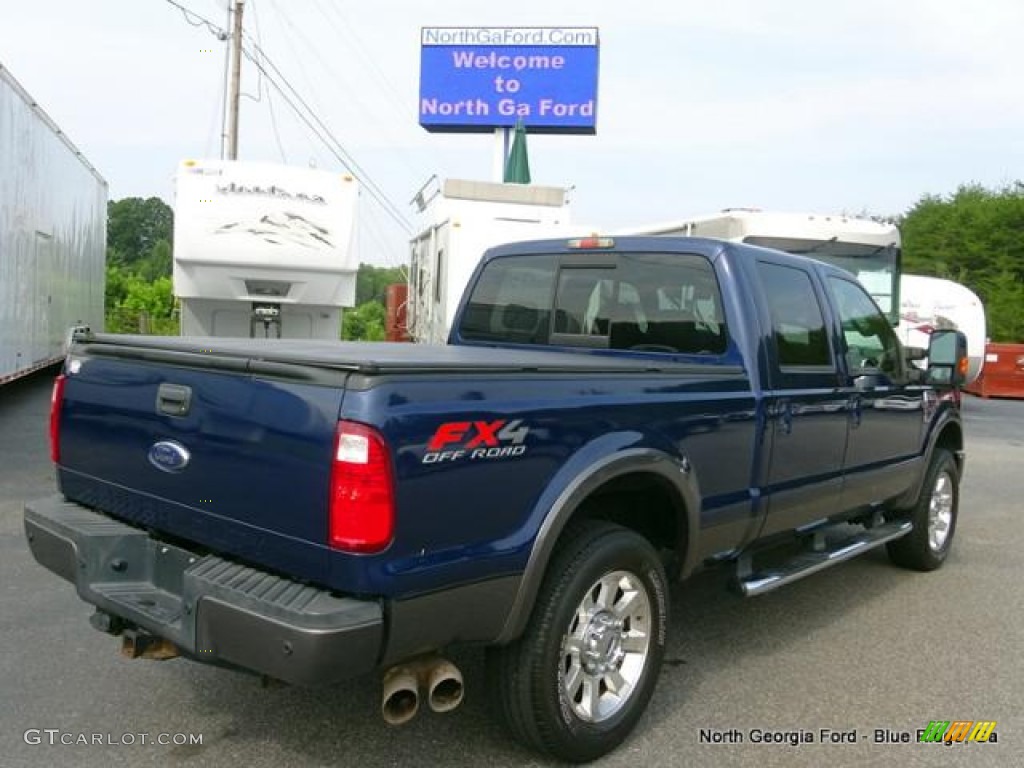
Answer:
[{"label": "front wheel and tire of the blue pickup, below the side mirror", "polygon": [[945,449],[937,449],[910,510],[913,529],[887,545],[889,558],[905,568],[935,570],[949,554],[959,508],[959,470]]}]

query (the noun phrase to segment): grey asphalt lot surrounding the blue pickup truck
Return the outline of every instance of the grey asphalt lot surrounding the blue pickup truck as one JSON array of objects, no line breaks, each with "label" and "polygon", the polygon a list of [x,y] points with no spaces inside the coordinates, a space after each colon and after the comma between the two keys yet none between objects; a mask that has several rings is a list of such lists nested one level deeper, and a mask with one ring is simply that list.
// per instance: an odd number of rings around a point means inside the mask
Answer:
[{"label": "grey asphalt lot surrounding the blue pickup truck", "polygon": [[[548,764],[490,718],[477,649],[453,655],[465,703],[400,727],[381,720],[378,676],[263,688],[122,657],[25,542],[24,503],[55,490],[50,380],[0,388],[0,765]],[[597,765],[1024,765],[1024,400],[969,396],[964,411],[961,517],[940,570],[871,553],[751,599],[724,571],[699,574],[673,597],[647,714]],[[933,720],[994,720],[996,740],[918,742]]]}]

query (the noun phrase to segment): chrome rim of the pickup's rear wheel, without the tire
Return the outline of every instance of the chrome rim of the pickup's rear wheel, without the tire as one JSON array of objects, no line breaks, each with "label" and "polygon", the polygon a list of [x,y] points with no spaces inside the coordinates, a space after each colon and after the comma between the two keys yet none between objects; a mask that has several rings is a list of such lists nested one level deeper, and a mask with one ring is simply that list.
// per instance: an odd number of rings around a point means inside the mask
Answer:
[{"label": "chrome rim of the pickup's rear wheel, without the tire", "polygon": [[613,570],[595,582],[562,638],[559,682],[588,723],[614,716],[630,699],[650,651],[651,606],[635,573]]}]

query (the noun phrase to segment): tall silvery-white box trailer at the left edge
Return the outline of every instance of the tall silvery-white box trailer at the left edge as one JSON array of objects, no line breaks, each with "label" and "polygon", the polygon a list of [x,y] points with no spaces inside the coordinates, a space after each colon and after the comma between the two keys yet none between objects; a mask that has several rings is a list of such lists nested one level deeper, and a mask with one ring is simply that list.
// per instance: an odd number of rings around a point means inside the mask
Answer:
[{"label": "tall silvery-white box trailer at the left edge", "polygon": [[0,384],[103,326],[106,181],[0,65]]}]

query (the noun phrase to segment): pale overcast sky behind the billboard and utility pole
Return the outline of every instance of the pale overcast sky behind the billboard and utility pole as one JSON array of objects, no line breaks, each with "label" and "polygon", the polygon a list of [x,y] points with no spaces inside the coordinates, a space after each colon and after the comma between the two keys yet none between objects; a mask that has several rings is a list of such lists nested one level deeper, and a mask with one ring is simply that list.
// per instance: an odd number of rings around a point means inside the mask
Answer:
[{"label": "pale overcast sky behind the billboard and utility pole", "polygon": [[[225,0],[178,1],[226,24]],[[490,178],[496,144],[419,126],[422,27],[599,28],[597,134],[529,138],[534,181],[573,186],[572,218],[595,228],[728,206],[898,214],[926,194],[1024,177],[1021,0],[246,8],[250,36],[413,221],[408,203],[431,174]],[[111,199],[170,203],[177,163],[218,155],[224,46],[166,0],[0,0],[0,62]],[[252,66],[243,87],[240,159],[340,169]],[[366,260],[402,262],[407,236],[364,209]]]}]

